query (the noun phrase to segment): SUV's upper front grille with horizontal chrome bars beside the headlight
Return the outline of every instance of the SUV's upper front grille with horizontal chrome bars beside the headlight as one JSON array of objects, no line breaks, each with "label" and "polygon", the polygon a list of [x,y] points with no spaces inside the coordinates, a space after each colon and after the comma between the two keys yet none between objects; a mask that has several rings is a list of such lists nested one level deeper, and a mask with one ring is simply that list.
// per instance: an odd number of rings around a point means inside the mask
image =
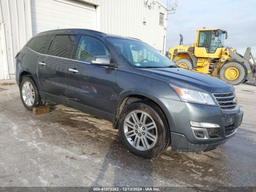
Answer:
[{"label": "SUV's upper front grille with horizontal chrome bars beside the headlight", "polygon": [[214,93],[213,95],[218,101],[220,108],[223,110],[232,110],[236,108],[236,94],[234,92]]}]

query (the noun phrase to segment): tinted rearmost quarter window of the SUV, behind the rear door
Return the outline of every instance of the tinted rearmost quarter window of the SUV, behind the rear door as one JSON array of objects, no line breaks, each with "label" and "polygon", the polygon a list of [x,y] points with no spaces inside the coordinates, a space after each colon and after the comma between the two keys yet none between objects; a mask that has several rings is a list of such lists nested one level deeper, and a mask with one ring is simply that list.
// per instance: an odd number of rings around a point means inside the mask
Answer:
[{"label": "tinted rearmost quarter window of the SUV, behind the rear door", "polygon": [[28,43],[28,47],[38,53],[46,54],[53,37],[53,35],[34,37]]}]

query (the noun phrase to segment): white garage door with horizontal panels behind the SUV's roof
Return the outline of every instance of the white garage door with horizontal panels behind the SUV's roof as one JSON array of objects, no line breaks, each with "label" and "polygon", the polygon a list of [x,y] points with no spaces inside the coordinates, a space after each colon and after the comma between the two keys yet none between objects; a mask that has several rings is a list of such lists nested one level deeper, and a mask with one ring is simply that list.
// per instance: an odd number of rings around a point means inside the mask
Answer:
[{"label": "white garage door with horizontal panels behind the SUV's roof", "polygon": [[32,32],[63,28],[96,29],[96,7],[78,0],[30,0]]}]

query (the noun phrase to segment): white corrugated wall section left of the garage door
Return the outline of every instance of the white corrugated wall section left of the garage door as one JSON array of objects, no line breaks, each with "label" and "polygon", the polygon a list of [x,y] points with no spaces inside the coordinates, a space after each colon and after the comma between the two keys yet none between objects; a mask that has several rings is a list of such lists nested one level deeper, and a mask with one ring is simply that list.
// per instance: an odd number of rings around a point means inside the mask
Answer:
[{"label": "white corrugated wall section left of the garage door", "polygon": [[14,78],[14,57],[32,36],[30,0],[0,0],[0,22],[0,67],[5,79]]}]

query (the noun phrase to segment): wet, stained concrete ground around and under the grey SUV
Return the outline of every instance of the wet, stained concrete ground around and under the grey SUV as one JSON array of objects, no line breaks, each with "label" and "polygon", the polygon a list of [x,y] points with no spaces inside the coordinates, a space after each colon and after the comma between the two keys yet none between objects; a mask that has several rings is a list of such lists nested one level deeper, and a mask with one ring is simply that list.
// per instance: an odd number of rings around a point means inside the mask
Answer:
[{"label": "wet, stained concrete ground around and under the grey SUV", "polygon": [[60,105],[36,116],[17,85],[0,85],[0,186],[256,186],[256,87],[235,88],[244,110],[236,136],[210,152],[168,148],[146,160],[110,122]]}]

